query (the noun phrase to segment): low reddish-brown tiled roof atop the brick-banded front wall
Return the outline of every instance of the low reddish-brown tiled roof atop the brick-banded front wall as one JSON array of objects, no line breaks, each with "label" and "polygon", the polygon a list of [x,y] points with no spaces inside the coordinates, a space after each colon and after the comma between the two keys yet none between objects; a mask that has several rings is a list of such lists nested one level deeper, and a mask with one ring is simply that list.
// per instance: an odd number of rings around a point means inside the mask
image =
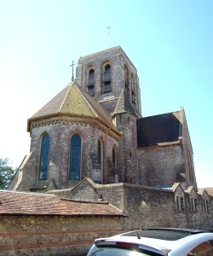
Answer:
[{"label": "low reddish-brown tiled roof atop the brick-banded front wall", "polygon": [[63,200],[56,195],[0,190],[1,215],[124,216],[108,202]]}]

